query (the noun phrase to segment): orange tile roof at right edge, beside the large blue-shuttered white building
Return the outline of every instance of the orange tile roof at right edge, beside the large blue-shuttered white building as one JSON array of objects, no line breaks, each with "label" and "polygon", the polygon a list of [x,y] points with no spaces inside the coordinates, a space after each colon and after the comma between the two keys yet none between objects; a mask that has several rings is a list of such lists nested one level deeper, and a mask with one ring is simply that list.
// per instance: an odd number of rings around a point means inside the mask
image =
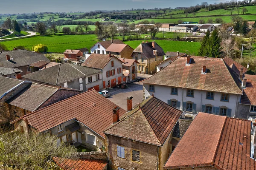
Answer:
[{"label": "orange tile roof at right edge, beside the large blue-shuttered white building", "polygon": [[256,105],[256,82],[247,81],[240,103],[245,105]]}]

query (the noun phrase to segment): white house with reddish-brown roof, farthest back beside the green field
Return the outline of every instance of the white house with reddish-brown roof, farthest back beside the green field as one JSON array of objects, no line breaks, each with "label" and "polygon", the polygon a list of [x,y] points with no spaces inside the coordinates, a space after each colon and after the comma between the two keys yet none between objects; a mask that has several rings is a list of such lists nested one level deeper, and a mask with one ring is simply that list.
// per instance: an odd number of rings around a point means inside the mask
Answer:
[{"label": "white house with reddish-brown roof, farthest back beside the green field", "polygon": [[[94,44],[90,48],[90,52],[96,53],[96,54],[107,54],[106,49],[111,45],[111,44],[125,44],[121,40],[116,39],[116,40],[108,40],[108,41],[99,41],[96,44]],[[130,56],[129,56],[130,57]]]}]

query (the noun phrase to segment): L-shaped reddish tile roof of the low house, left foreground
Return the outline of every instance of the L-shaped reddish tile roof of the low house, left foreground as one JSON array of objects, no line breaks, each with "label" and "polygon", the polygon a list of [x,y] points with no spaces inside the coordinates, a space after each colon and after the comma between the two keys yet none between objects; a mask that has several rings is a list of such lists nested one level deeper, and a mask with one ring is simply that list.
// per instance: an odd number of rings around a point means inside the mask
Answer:
[{"label": "L-shaped reddish tile roof of the low house, left foreground", "polygon": [[[29,126],[43,132],[71,119],[77,119],[104,137],[103,130],[113,122],[112,109],[116,105],[95,90],[64,99],[23,117]],[[72,113],[72,114],[71,114]],[[120,108],[120,116],[125,110]],[[14,122],[17,122],[16,119]]]}]

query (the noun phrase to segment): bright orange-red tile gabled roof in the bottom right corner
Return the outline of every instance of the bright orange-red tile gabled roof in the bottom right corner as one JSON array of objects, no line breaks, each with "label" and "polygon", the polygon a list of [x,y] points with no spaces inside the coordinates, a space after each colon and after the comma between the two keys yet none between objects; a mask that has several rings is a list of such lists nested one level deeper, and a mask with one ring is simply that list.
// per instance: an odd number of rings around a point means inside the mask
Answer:
[{"label": "bright orange-red tile gabled roof in the bottom right corner", "polygon": [[250,158],[251,122],[198,113],[164,169],[214,166],[218,170],[255,170]]}]

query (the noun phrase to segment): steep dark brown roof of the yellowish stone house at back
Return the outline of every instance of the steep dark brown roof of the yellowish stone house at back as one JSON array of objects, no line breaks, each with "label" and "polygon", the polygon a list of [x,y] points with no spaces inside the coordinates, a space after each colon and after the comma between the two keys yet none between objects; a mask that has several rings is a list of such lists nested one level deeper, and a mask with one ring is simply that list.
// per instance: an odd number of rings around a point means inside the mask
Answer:
[{"label": "steep dark brown roof of the yellowish stone house at back", "polygon": [[[152,46],[152,43],[154,43],[154,48]],[[155,50],[155,51],[154,51]],[[157,52],[157,56],[163,56],[165,55],[163,48],[161,48],[156,42],[145,42],[145,43],[140,43],[140,45],[135,48],[133,52],[136,53],[143,53],[145,57],[149,58],[154,58],[154,52]]]}]

